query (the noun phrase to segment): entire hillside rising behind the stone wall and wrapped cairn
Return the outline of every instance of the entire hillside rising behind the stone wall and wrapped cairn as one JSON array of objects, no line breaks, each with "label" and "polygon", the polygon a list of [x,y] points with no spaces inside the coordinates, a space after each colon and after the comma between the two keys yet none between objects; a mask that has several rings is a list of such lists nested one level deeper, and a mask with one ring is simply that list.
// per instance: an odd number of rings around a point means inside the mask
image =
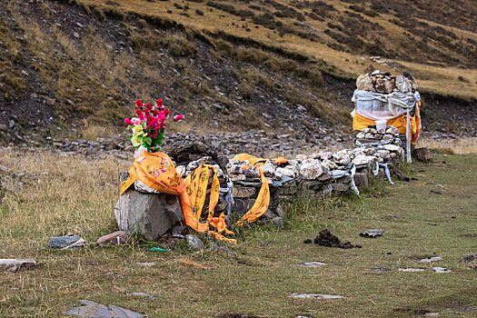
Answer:
[{"label": "entire hillside rising behind the stone wall and wrapped cairn", "polygon": [[[114,132],[136,98],[163,98],[184,113],[173,131],[342,134],[351,128],[353,78],[374,68],[412,72],[429,128],[475,134],[471,1],[455,6],[459,19],[426,15],[427,26],[411,8],[414,26],[389,22],[408,7],[338,1],[2,2],[1,138],[78,136],[85,126]],[[429,28],[434,20],[442,25]],[[407,31],[398,36],[400,27]],[[421,36],[424,29],[433,34]],[[441,35],[448,45],[433,39]]]}]

